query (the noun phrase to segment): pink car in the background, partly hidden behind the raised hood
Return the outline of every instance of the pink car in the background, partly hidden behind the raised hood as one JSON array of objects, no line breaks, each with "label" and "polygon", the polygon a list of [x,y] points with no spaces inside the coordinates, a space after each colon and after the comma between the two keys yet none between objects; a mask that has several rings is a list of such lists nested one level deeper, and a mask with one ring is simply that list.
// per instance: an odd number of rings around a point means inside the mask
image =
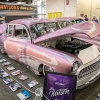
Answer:
[{"label": "pink car in the background, partly hidden behind the raised hood", "polygon": [[82,18],[77,18],[77,17],[61,17],[61,18],[56,18],[55,20],[59,23],[59,25],[62,28],[78,24],[84,21]]}]

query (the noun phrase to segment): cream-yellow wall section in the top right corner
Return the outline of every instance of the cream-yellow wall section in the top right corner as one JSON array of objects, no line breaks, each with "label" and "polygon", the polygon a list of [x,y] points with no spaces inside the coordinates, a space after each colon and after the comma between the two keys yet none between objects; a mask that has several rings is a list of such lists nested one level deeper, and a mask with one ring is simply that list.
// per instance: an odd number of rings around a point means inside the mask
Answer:
[{"label": "cream-yellow wall section in the top right corner", "polygon": [[100,21],[100,0],[77,0],[77,16],[80,13],[91,19],[96,16]]}]

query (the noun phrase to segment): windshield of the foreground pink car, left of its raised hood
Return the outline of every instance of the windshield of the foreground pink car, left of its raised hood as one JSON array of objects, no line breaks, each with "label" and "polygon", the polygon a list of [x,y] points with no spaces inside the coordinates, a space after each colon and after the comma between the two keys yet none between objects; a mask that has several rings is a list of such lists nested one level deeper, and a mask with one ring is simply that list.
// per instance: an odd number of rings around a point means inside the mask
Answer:
[{"label": "windshield of the foreground pink car, left of its raised hood", "polygon": [[60,29],[57,22],[37,23],[30,26],[30,32],[35,33],[36,37],[54,32]]}]

